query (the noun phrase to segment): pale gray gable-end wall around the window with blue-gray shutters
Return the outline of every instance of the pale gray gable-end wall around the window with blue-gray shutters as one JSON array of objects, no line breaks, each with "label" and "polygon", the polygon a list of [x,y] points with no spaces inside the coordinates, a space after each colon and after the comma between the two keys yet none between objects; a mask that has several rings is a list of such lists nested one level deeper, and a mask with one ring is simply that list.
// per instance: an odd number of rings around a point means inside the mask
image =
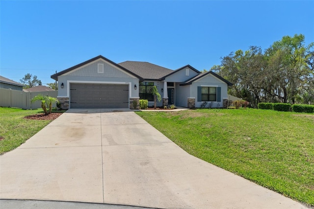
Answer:
[{"label": "pale gray gable-end wall around the window with blue-gray shutters", "polygon": [[[223,107],[223,98],[228,98],[228,84],[225,83],[224,81],[212,76],[211,74],[200,78],[199,80],[194,81],[191,84],[191,94],[194,95],[195,97],[195,107],[200,107],[202,102],[200,97],[200,94],[198,94],[198,89],[201,86],[213,86],[213,87],[218,87],[217,88],[217,101],[219,102],[213,102],[212,107]],[[220,90],[219,90],[220,89]],[[219,95],[220,94],[220,95]],[[219,103],[219,104],[218,104]]]}]

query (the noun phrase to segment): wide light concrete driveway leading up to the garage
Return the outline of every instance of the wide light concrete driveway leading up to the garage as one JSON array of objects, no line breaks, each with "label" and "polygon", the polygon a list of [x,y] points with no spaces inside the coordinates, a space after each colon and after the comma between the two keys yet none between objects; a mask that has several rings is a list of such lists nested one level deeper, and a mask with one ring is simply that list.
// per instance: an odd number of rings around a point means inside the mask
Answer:
[{"label": "wide light concrete driveway leading up to the garage", "polygon": [[187,154],[129,109],[70,109],[0,156],[0,198],[167,209],[306,208]]}]

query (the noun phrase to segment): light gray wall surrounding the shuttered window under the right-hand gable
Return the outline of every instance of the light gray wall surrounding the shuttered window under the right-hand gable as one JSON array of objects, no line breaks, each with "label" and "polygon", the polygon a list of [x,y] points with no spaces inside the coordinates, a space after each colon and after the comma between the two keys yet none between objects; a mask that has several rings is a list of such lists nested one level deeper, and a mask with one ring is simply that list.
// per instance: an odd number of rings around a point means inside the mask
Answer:
[{"label": "light gray wall surrounding the shuttered window under the right-hand gable", "polygon": [[[212,75],[207,75],[204,78],[201,78],[191,84],[191,95],[192,97],[195,97],[195,107],[200,107],[202,102],[197,102],[197,86],[201,85],[212,85],[212,86],[217,86],[221,87],[221,102],[219,102],[219,107],[223,107],[223,98],[228,98],[228,85],[227,83],[221,81],[220,79],[212,76]],[[218,102],[213,102],[212,107],[217,107]]]}]

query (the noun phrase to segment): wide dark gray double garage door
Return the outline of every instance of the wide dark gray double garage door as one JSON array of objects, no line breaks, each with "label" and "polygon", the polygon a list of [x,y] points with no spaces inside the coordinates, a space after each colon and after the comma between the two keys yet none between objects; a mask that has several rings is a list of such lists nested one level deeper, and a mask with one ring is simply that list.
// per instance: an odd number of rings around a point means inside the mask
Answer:
[{"label": "wide dark gray double garage door", "polygon": [[129,85],[70,84],[70,108],[129,108]]}]

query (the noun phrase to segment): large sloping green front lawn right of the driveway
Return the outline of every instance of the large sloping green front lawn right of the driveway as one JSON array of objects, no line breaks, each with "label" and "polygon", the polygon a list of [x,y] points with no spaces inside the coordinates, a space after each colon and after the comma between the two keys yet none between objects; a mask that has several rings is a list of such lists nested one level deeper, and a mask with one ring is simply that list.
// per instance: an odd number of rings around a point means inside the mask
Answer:
[{"label": "large sloping green front lawn right of the driveway", "polygon": [[260,109],[136,113],[191,155],[314,206],[314,114]]}]

